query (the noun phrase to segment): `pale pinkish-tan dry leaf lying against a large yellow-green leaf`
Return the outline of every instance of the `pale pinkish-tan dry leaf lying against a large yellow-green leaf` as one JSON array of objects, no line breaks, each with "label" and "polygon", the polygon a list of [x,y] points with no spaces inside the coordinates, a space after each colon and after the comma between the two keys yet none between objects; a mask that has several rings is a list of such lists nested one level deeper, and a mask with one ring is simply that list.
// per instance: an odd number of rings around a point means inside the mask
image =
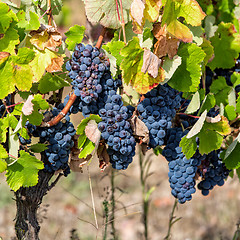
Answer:
[{"label": "pale pinkish-tan dry leaf lying against a large yellow-green leaf", "polygon": [[158,76],[158,70],[161,65],[161,59],[159,59],[154,53],[148,49],[144,49],[143,53],[143,65],[141,71],[148,72],[153,78]]}]

